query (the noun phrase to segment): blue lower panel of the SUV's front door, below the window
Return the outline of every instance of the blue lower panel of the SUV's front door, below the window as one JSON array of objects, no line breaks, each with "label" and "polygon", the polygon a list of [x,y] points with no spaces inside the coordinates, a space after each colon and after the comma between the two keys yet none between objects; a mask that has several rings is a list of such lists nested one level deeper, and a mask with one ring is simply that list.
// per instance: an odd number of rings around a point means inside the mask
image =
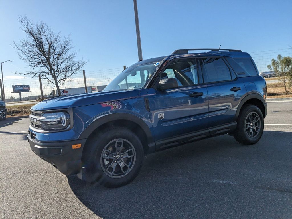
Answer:
[{"label": "blue lower panel of the SUV's front door, below the window", "polygon": [[[190,96],[196,92],[203,93],[203,95]],[[169,143],[175,137],[207,130],[208,94],[205,85],[166,91],[150,88],[148,100],[157,145]],[[208,131],[206,131],[206,135],[208,135]],[[183,138],[180,140],[184,141]],[[161,146],[163,145],[159,147]]]}]

